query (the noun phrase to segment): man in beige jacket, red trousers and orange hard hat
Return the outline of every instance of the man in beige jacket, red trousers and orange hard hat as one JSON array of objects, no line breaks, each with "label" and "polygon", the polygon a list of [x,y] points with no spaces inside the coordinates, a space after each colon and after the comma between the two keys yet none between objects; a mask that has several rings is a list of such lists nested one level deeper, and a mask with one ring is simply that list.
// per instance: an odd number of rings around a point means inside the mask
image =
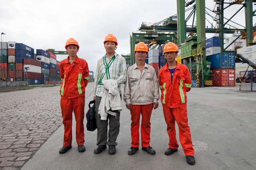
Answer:
[{"label": "man in beige jacket, red trousers and orange hard hat", "polygon": [[126,108],[131,112],[131,148],[128,155],[133,155],[139,149],[140,114],[142,150],[154,155],[155,150],[150,147],[150,117],[152,109],[158,107],[159,87],[154,68],[145,63],[148,47],[144,42],[137,44],[135,50],[137,62],[128,68],[127,81],[124,89]]}]

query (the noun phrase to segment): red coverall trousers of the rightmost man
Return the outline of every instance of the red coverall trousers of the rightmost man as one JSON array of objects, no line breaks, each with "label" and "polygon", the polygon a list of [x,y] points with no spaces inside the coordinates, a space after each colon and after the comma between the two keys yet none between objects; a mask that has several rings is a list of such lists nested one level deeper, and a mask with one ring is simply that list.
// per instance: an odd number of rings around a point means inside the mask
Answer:
[{"label": "red coverall trousers of the rightmost man", "polygon": [[179,127],[180,144],[186,156],[194,156],[190,128],[188,125],[188,116],[186,105],[179,108],[169,108],[163,105],[163,115],[167,124],[167,133],[169,135],[169,148],[178,149],[176,140],[175,121]]}]

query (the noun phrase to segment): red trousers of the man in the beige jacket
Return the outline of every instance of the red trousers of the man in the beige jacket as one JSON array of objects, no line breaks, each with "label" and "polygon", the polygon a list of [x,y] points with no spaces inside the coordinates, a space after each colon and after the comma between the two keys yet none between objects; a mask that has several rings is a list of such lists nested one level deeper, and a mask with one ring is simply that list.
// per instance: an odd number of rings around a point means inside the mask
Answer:
[{"label": "red trousers of the man in the beige jacket", "polygon": [[150,117],[153,109],[153,104],[149,105],[132,105],[131,108],[131,147],[139,147],[140,136],[140,114],[142,115],[141,121],[141,144],[142,147],[150,146]]}]

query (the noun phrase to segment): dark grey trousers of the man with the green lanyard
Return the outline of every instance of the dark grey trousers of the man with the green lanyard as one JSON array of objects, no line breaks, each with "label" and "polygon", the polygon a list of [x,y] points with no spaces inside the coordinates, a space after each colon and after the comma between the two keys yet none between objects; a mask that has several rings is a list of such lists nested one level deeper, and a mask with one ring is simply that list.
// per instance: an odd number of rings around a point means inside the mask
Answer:
[{"label": "dark grey trousers of the man with the green lanyard", "polygon": [[[99,104],[102,97],[96,96],[96,125],[97,125],[97,145],[117,145],[116,139],[119,134],[120,127],[120,112],[116,112],[116,116],[108,114],[107,120],[101,120],[99,111]],[[109,122],[108,122],[109,120]],[[109,124],[109,130],[108,130]],[[108,142],[107,142],[108,140]]]}]

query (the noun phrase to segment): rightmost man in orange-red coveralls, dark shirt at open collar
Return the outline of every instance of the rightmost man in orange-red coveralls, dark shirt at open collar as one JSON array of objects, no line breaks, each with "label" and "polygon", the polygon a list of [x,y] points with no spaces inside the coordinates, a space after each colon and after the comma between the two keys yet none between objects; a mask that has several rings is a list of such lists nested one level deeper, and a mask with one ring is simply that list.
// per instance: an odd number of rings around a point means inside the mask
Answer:
[{"label": "rightmost man in orange-red coveralls, dark shirt at open collar", "polygon": [[175,121],[179,127],[180,143],[183,147],[187,163],[195,164],[194,149],[190,128],[188,125],[186,92],[191,89],[191,77],[186,65],[175,61],[178,47],[173,42],[168,42],[163,49],[166,65],[159,71],[159,85],[161,89],[161,102],[163,114],[169,135],[169,148],[165,155],[177,152],[179,147],[176,140]]}]

